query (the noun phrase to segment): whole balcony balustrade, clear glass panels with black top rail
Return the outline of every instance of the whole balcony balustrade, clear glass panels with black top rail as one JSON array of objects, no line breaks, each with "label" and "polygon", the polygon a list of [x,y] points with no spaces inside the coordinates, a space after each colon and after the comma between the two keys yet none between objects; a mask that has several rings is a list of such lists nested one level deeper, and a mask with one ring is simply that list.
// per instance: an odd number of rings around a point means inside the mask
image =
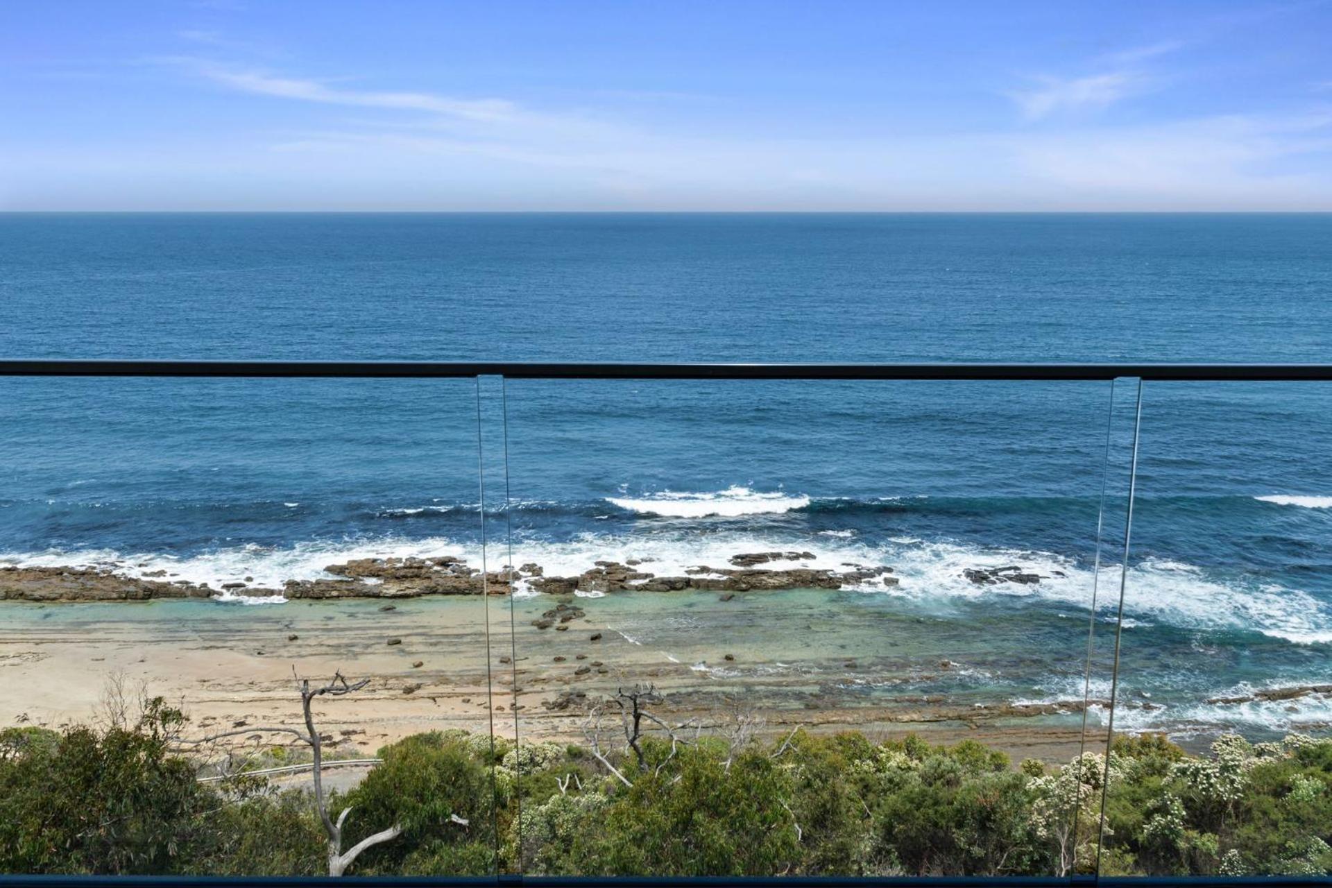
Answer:
[{"label": "whole balcony balustrade, clear glass panels with black top rail", "polygon": [[0,883],[1332,869],[1332,365],[0,377]]}]

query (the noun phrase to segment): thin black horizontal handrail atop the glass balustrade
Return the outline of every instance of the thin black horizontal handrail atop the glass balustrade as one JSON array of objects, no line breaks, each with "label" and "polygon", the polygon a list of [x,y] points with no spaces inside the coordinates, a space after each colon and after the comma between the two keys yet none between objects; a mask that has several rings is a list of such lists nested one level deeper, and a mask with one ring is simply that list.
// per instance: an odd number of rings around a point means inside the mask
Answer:
[{"label": "thin black horizontal handrail atop the glass balustrade", "polygon": [[578,363],[526,361],[7,359],[5,377],[434,379],[1014,379],[1332,381],[1332,363]]}]

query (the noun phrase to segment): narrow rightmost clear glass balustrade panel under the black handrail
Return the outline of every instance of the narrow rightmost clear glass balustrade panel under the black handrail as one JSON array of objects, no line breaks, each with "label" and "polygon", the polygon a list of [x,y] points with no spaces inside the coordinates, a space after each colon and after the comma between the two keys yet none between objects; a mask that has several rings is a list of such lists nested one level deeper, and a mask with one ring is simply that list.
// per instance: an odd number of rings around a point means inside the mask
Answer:
[{"label": "narrow rightmost clear glass balustrade panel under the black handrail", "polygon": [[1103,875],[1332,872],[1324,387],[1147,386]]}]

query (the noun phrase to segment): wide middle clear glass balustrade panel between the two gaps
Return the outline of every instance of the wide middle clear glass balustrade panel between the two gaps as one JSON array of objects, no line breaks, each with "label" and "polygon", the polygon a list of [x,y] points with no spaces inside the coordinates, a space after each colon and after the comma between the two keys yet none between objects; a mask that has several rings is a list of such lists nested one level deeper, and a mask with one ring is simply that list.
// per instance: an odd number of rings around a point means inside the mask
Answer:
[{"label": "wide middle clear glass balustrade panel between the two gaps", "polygon": [[1107,394],[510,379],[515,864],[1071,871]]}]

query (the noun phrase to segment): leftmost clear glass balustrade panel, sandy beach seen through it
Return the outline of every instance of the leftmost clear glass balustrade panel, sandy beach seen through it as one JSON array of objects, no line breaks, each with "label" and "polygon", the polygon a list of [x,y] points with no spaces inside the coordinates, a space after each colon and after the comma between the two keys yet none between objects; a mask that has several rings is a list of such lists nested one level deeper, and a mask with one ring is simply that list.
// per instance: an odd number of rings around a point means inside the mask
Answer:
[{"label": "leftmost clear glass balustrade panel, sandy beach seen through it", "polygon": [[493,872],[472,381],[0,387],[5,871]]}]

